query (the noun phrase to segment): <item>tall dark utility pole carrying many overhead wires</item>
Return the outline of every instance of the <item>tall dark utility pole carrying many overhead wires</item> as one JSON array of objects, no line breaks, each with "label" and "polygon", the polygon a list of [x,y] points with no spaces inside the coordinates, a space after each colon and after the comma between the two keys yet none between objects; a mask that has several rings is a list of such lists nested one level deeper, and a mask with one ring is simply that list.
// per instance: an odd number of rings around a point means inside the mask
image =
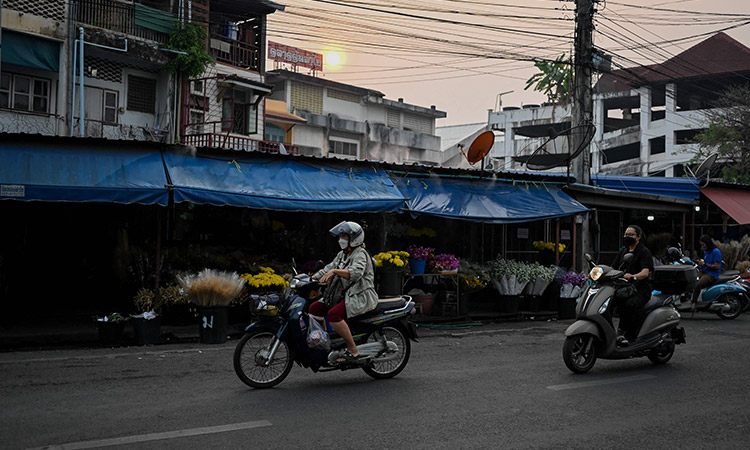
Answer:
[{"label": "tall dark utility pole carrying many overhead wires", "polygon": [[[571,124],[573,134],[571,135],[571,151],[578,149],[584,144],[584,139],[590,133],[588,127],[593,123],[594,103],[592,99],[591,73],[594,53],[594,2],[595,0],[575,0],[576,3],[576,30],[574,47],[574,88],[573,88],[573,123]],[[576,181],[582,184],[591,184],[591,149],[586,144],[583,151],[573,161],[573,171]],[[585,269],[585,253],[591,252],[591,236],[589,230],[589,217],[578,216],[576,222],[580,222],[580,239],[576,248],[578,267]]]}]

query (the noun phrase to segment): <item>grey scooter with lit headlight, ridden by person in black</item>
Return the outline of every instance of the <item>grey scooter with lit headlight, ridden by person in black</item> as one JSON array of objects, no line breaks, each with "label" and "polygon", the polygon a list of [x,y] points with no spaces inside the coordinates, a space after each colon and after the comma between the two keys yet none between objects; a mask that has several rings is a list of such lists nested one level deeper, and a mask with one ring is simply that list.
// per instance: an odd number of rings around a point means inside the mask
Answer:
[{"label": "grey scooter with lit headlight, ridden by person in black", "polygon": [[[631,258],[632,254],[626,254],[624,264]],[[669,273],[662,277],[665,282],[658,283],[660,290],[655,291],[639,311],[645,318],[641,322],[637,338],[623,345],[617,339],[612,304],[616,290],[629,283],[624,278],[625,272],[605,265],[595,265],[589,255],[586,255],[586,259],[593,265],[589,283],[576,307],[577,320],[565,330],[562,353],[568,369],[573,373],[586,373],[594,367],[597,358],[626,359],[645,356],[654,364],[667,363],[674,354],[675,345],[685,343],[685,330],[679,327],[680,313],[674,308],[674,302],[685,291],[684,284],[689,282],[689,275],[684,270],[668,269]],[[656,273],[659,270],[657,268]]]}]

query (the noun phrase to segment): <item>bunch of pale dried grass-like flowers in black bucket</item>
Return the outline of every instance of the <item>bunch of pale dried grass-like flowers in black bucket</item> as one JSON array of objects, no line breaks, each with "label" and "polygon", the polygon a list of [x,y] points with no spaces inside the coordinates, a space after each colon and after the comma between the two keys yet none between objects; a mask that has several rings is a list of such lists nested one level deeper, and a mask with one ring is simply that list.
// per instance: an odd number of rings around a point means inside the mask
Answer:
[{"label": "bunch of pale dried grass-like flowers in black bucket", "polygon": [[242,292],[245,280],[235,272],[204,269],[198,275],[177,277],[190,303],[226,306]]}]

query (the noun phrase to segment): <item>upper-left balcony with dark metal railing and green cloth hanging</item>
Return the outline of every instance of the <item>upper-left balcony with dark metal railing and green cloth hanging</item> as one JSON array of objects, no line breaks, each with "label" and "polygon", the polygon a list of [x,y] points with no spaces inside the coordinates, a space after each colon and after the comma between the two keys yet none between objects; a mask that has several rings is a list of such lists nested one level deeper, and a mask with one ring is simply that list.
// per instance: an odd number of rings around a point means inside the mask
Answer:
[{"label": "upper-left balcony with dark metal railing and green cloth hanging", "polygon": [[78,23],[162,44],[169,41],[166,29],[170,20],[176,19],[166,11],[116,0],[71,0],[71,4],[73,20]]}]

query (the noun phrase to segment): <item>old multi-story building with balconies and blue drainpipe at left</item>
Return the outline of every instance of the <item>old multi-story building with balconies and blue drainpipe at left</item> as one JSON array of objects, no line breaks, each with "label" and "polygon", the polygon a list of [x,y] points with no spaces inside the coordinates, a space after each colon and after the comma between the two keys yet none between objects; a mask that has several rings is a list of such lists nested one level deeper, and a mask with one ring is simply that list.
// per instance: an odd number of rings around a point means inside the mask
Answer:
[{"label": "old multi-story building with balconies and blue drainpipe at left", "polygon": [[[5,0],[0,132],[258,148],[271,91],[266,15],[279,9],[266,0]],[[216,64],[200,79],[166,68],[177,20],[207,31]]]}]

